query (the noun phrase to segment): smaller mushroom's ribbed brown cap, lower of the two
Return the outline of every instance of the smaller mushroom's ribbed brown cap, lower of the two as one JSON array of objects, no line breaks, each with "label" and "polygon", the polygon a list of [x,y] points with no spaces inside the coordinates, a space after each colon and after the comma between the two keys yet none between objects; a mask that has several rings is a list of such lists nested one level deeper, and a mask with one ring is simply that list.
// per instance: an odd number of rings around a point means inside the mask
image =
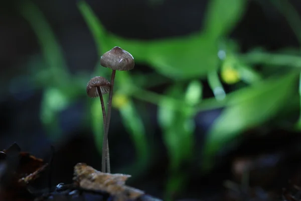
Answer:
[{"label": "smaller mushroom's ribbed brown cap, lower of the two", "polygon": [[100,87],[101,94],[106,94],[110,90],[110,82],[100,76],[93,77],[87,84],[87,94],[89,97],[99,97],[97,86]]}]

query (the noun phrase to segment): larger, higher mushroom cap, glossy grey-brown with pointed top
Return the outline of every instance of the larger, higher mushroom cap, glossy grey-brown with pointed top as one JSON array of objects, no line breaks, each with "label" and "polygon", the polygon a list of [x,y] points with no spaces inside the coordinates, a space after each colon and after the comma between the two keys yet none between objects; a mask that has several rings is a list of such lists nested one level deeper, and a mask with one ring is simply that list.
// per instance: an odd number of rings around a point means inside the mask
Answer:
[{"label": "larger, higher mushroom cap, glossy grey-brown with pointed top", "polygon": [[135,62],[129,52],[116,46],[100,57],[100,65],[112,70],[131,70],[134,68]]}]

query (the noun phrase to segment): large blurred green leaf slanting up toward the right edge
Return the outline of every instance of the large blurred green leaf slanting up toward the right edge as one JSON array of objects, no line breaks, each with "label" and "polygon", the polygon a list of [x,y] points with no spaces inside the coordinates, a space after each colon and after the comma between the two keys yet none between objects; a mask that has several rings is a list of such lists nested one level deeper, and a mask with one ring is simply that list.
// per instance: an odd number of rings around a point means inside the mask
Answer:
[{"label": "large blurred green leaf slanting up toward the right edge", "polygon": [[289,103],[295,94],[297,73],[238,90],[228,101],[228,107],[217,118],[208,132],[204,148],[204,168],[210,168],[213,156],[242,131],[258,126],[272,118]]}]

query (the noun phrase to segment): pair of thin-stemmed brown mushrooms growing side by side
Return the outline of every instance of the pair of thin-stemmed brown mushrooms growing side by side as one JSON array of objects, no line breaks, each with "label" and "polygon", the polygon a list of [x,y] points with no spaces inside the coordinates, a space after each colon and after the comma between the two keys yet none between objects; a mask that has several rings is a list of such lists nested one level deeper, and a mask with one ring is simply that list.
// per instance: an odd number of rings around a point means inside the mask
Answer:
[{"label": "pair of thin-stemmed brown mushrooms growing side by side", "polygon": [[[103,143],[102,143],[102,160],[101,160],[101,171],[110,173],[110,155],[108,146],[108,132],[111,118],[112,109],[112,97],[113,97],[113,86],[116,70],[131,70],[134,68],[134,58],[130,53],[121,49],[120,47],[114,47],[110,51],[104,53],[100,57],[100,65],[106,68],[112,69],[111,82],[104,77],[93,77],[87,84],[87,94],[89,97],[99,97],[102,117],[103,117]],[[109,103],[107,115],[105,114],[105,107],[103,103],[103,94],[109,92]]]}]

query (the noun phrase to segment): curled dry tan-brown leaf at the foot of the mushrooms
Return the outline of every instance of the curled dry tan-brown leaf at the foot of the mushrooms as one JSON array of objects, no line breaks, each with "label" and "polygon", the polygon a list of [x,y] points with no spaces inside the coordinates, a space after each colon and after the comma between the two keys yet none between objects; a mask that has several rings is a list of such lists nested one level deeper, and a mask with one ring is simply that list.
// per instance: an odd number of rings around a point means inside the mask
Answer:
[{"label": "curled dry tan-brown leaf at the foot of the mushrooms", "polygon": [[85,163],[78,163],[74,166],[74,181],[80,187],[90,190],[102,190],[114,196],[116,201],[136,199],[144,192],[125,185],[130,177],[127,174],[110,174],[95,170]]}]

